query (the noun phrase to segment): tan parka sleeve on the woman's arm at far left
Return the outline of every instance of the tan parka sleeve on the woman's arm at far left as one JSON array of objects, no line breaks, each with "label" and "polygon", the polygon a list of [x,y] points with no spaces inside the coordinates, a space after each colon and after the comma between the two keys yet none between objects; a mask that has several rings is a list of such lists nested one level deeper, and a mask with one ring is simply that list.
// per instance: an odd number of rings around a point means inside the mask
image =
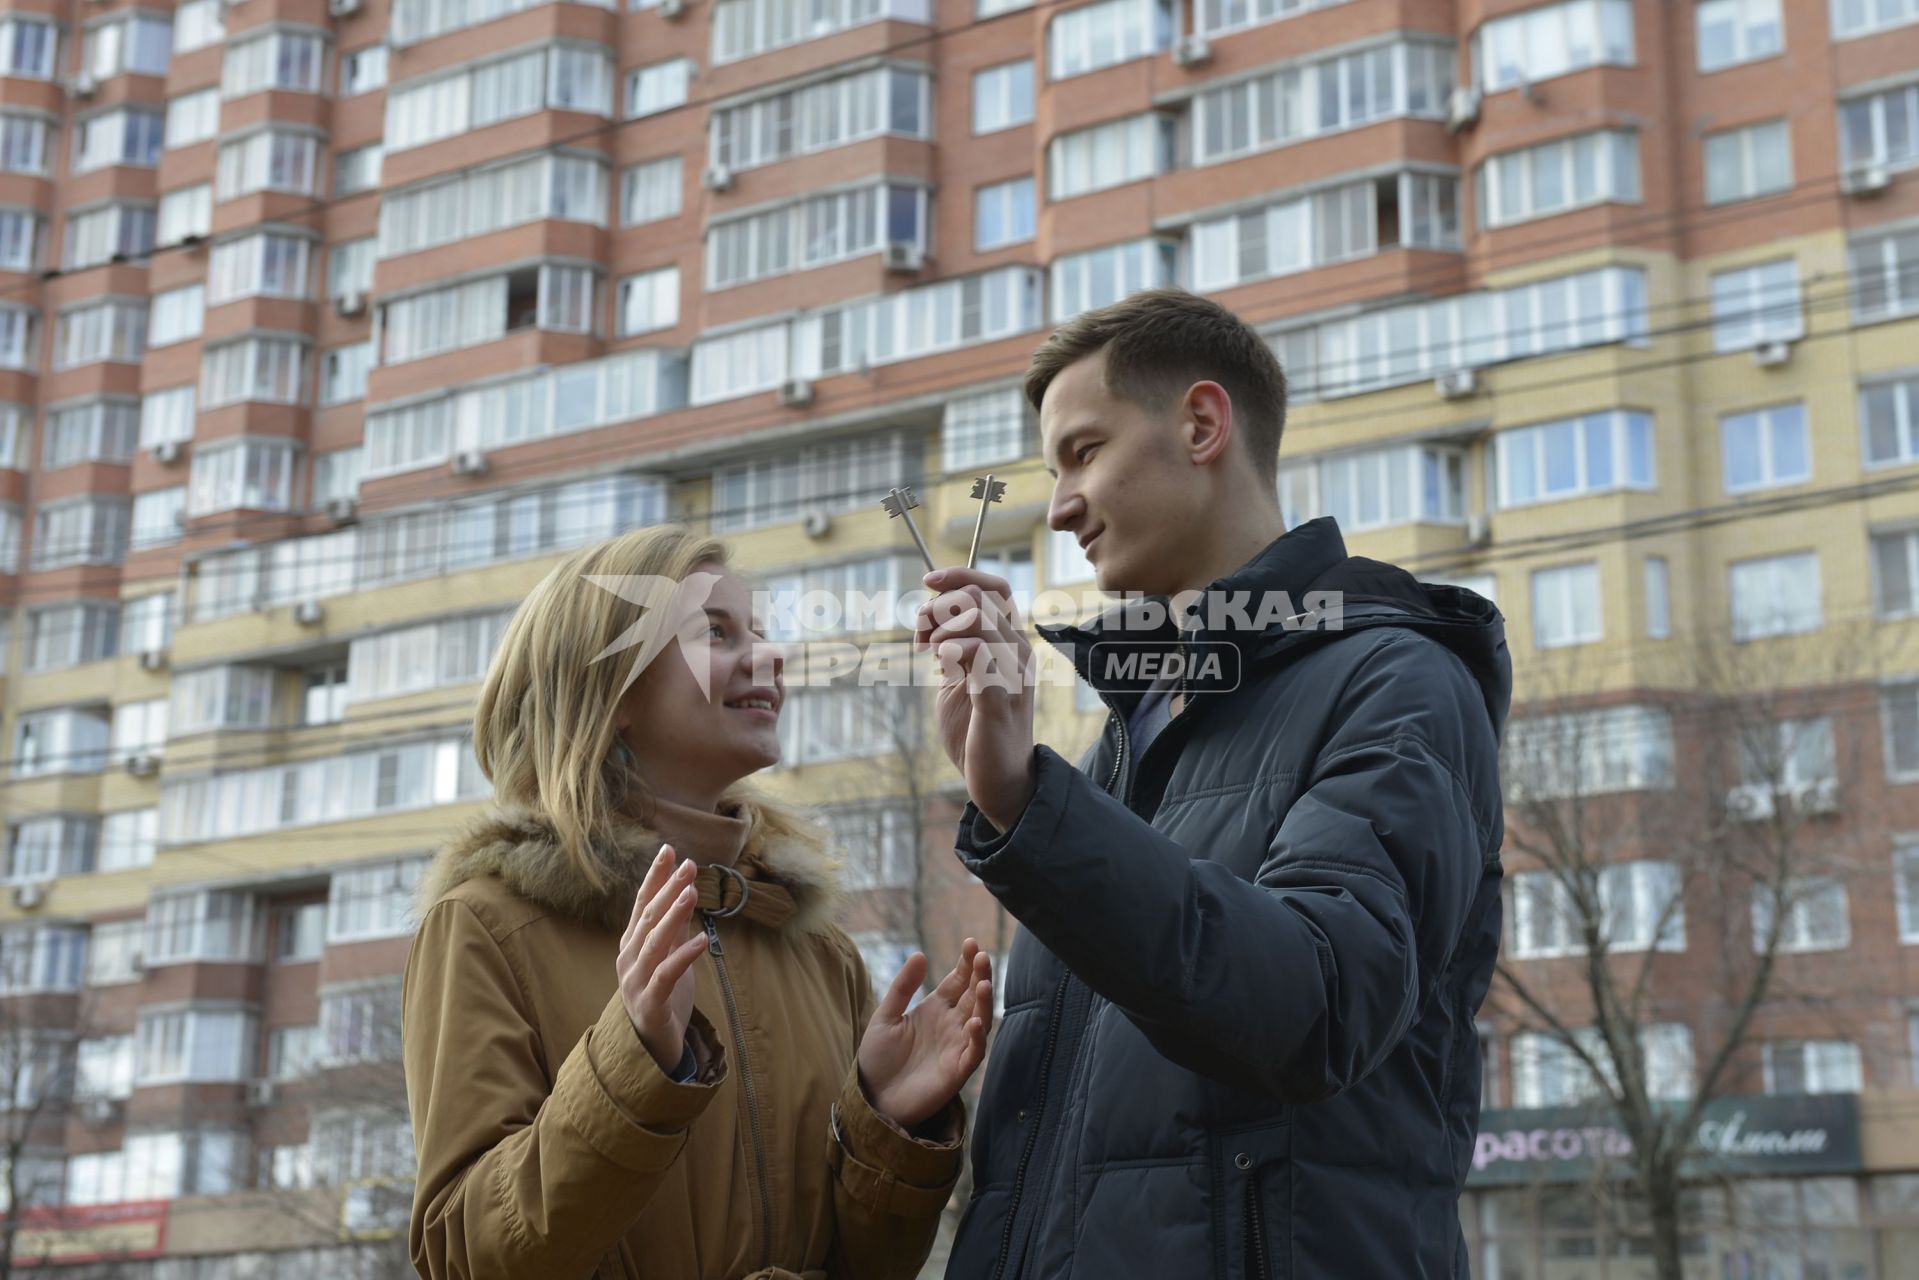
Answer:
[{"label": "tan parka sleeve on the woman's arm at far left", "polygon": [[413,940],[403,1029],[418,1157],[409,1245],[430,1280],[593,1270],[725,1073],[695,1013],[700,1082],[668,1080],[614,992],[549,1090],[512,963],[457,898],[436,904]]}]

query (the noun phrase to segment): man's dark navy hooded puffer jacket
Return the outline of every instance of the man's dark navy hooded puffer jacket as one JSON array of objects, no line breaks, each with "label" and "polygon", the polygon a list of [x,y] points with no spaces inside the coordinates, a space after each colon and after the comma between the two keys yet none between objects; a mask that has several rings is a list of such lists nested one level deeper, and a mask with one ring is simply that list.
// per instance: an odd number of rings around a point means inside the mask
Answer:
[{"label": "man's dark navy hooded puffer jacket", "polygon": [[[1009,833],[961,816],[1023,929],[950,1280],[1468,1274],[1504,624],[1347,557],[1332,520],[1213,585],[1339,591],[1343,614],[1201,631],[1238,689],[1192,685],[1138,760],[1138,693],[1109,693],[1078,770],[1036,748]],[[1117,612],[1040,631],[1084,677]]]}]

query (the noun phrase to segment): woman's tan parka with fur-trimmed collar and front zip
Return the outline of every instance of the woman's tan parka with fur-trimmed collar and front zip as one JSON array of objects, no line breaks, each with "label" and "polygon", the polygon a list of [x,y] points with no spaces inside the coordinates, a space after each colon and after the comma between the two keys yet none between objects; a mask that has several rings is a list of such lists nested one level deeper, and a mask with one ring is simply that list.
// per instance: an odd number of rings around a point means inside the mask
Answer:
[{"label": "woman's tan parka with fur-trimmed collar and front zip", "polygon": [[422,1276],[917,1274],[960,1174],[961,1107],[919,1126],[938,1142],[873,1111],[852,1063],[875,1002],[831,923],[833,864],[775,804],[731,804],[748,889],[741,908],[739,879],[699,877],[714,942],[695,965],[691,1084],[652,1061],[616,988],[656,833],[626,825],[595,850],[604,892],[526,810],[434,860],[405,981]]}]

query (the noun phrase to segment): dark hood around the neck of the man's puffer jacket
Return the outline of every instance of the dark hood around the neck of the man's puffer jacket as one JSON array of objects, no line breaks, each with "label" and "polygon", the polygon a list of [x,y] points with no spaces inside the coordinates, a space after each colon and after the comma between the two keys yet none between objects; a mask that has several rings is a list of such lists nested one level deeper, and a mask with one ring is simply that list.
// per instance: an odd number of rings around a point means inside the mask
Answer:
[{"label": "dark hood around the neck of the man's puffer jacket", "polygon": [[1092,679],[1100,641],[1230,645],[1238,656],[1226,670],[1188,677],[1188,697],[1199,699],[1228,695],[1242,676],[1267,662],[1380,626],[1420,631],[1457,652],[1480,685],[1493,733],[1504,737],[1512,656],[1499,608],[1466,587],[1426,583],[1397,564],[1347,555],[1332,516],[1274,537],[1209,583],[1184,622],[1171,618],[1167,597],[1144,597],[1123,601],[1086,626],[1034,629],[1073,660],[1080,679],[1111,693],[1125,712],[1151,681]]}]

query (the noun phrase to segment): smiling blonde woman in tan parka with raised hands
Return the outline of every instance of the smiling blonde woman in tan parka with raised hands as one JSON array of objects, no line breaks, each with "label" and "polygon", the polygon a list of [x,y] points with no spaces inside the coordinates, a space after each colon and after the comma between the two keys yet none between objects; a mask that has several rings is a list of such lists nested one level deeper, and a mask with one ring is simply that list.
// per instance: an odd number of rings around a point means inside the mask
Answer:
[{"label": "smiling blonde woman in tan parka with raised hands", "polygon": [[407,960],[422,1276],[904,1280],[931,1249],[988,961],[967,940],[908,1011],[915,954],[875,1007],[827,850],[743,785],[785,689],[725,564],[677,526],[587,547],[487,672],[495,806]]}]

